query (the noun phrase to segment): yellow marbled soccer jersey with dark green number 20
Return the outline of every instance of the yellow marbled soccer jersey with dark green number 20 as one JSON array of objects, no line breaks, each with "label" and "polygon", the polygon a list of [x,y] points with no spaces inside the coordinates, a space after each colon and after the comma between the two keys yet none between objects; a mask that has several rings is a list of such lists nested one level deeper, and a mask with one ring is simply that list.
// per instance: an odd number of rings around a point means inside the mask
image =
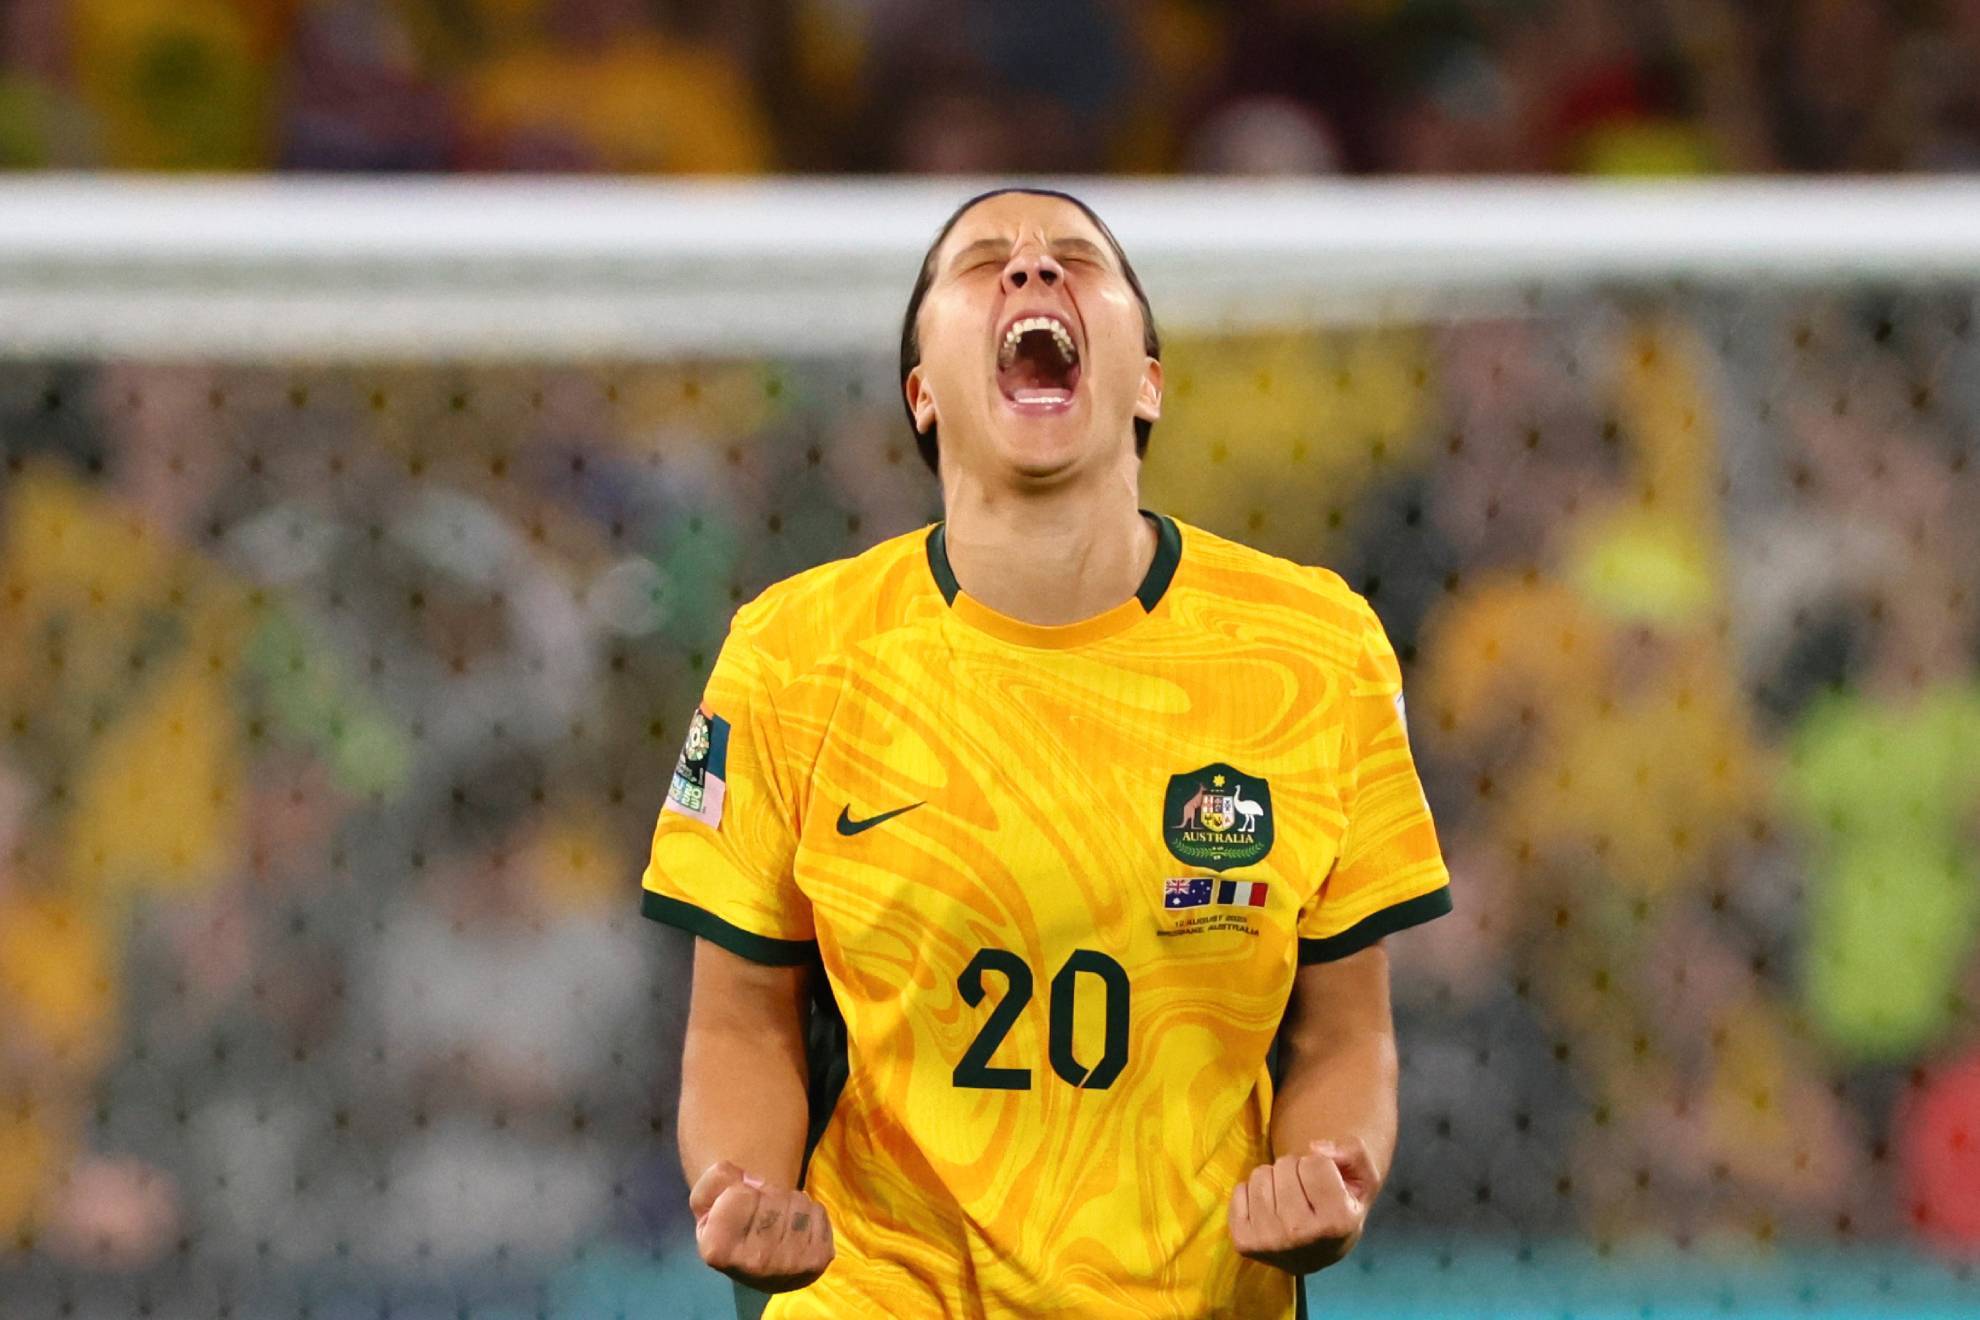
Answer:
[{"label": "yellow marbled soccer jersey with dark green number 20", "polygon": [[644,908],[824,968],[838,1257],[774,1320],[1295,1312],[1226,1227],[1293,974],[1449,881],[1366,602],[1150,517],[1065,627],[962,594],[940,524],[735,617]]}]

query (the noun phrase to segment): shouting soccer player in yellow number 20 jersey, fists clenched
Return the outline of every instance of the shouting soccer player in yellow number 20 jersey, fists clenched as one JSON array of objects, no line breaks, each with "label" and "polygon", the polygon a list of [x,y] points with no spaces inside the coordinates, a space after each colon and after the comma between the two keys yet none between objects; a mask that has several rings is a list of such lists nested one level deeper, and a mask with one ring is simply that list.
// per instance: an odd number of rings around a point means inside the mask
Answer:
[{"label": "shouting soccer player in yellow number 20 jersey, fists clenched", "polygon": [[1396,659],[1138,509],[1081,202],[950,218],[901,388],[944,520],[737,612],[645,871],[701,1257],[774,1318],[1293,1316],[1396,1146],[1382,938],[1449,910]]}]

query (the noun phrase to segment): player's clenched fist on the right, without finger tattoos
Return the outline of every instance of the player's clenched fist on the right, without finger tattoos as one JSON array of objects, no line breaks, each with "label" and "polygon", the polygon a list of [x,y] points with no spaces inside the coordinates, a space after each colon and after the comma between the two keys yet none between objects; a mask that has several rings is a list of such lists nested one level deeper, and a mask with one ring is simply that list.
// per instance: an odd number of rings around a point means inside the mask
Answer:
[{"label": "player's clenched fist on the right, without finger tattoos", "polygon": [[1360,1239],[1374,1199],[1374,1160],[1360,1142],[1315,1142],[1251,1170],[1232,1193],[1232,1243],[1251,1261],[1311,1274]]}]

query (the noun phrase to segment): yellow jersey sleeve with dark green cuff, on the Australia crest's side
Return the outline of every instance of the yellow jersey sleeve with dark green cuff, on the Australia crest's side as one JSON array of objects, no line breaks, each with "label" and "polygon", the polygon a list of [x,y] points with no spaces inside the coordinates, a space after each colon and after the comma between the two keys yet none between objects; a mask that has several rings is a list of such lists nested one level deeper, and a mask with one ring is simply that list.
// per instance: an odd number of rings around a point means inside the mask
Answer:
[{"label": "yellow jersey sleeve with dark green cuff, on the Australia crest's side", "polygon": [[1340,853],[1299,914],[1299,962],[1333,962],[1451,910],[1449,873],[1410,756],[1402,669],[1382,623],[1362,613],[1340,736]]}]

